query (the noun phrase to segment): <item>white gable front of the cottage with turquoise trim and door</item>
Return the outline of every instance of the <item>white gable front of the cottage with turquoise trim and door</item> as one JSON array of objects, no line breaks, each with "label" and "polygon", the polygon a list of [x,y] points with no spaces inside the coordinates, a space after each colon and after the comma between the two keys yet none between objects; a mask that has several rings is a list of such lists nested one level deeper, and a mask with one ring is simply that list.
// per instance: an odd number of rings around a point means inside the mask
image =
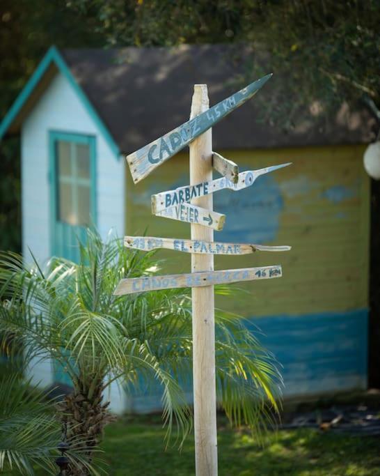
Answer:
[{"label": "white gable front of the cottage with turquoise trim and door", "polygon": [[[1,123],[0,135],[21,130],[22,252],[39,261],[77,259],[75,236],[93,223],[102,236],[124,231],[124,161],[102,119],[65,60],[52,47]],[[42,362],[35,382],[65,383],[61,368]],[[125,408],[117,385],[113,410]]]}]

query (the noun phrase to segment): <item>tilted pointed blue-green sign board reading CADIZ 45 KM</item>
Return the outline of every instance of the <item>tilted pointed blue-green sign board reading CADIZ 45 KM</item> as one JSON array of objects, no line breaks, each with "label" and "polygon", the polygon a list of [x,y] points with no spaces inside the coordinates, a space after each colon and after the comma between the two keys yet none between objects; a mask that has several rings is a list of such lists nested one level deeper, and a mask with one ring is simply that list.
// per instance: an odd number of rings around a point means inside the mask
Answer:
[{"label": "tilted pointed blue-green sign board reading CADIZ 45 KM", "polygon": [[258,79],[258,81],[249,84],[246,88],[219,102],[214,107],[210,107],[206,112],[150,142],[147,146],[143,146],[138,151],[127,155],[127,162],[134,183],[141,181],[162,162],[173,157],[196,137],[252,98],[270,77],[271,75],[267,75]]}]

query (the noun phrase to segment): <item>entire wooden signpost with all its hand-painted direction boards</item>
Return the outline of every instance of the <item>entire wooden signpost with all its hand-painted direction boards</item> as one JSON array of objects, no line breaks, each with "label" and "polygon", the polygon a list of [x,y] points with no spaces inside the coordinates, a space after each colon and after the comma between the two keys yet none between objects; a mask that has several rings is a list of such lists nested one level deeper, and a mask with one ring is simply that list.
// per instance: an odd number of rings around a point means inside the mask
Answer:
[{"label": "entire wooden signpost with all its hand-painted direction boards", "polygon": [[[280,252],[289,246],[214,242],[214,230],[223,228],[225,215],[212,207],[212,194],[229,188],[250,187],[255,180],[290,164],[239,173],[237,164],[212,152],[212,126],[252,98],[271,75],[209,109],[207,86],[194,86],[191,117],[159,139],[127,155],[134,182],[150,174],[161,163],[185,146],[190,149],[190,184],[152,195],[152,213],[191,224],[191,239],[125,236],[125,246],[149,251],[166,248],[191,253],[191,273],[121,279],[115,295],[142,293],[158,289],[191,287],[193,325],[193,404],[196,443],[196,475],[217,476],[216,381],[214,334],[214,285],[280,277],[280,265],[214,271],[214,254],[239,255],[255,251]],[[212,180],[212,170],[222,175]]]}]

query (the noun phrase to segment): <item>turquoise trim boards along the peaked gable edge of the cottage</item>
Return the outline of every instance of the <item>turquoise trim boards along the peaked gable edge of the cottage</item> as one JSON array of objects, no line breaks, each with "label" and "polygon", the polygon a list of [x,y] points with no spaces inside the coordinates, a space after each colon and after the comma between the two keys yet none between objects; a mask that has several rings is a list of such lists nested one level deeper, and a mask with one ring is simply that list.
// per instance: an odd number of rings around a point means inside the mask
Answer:
[{"label": "turquoise trim boards along the peaked gable edge of the cottage", "polygon": [[5,135],[6,131],[13,123],[13,121],[17,117],[17,114],[19,114],[22,107],[25,105],[26,101],[29,99],[29,96],[35,89],[35,86],[37,86],[38,82],[40,82],[40,79],[45,74],[47,68],[51,63],[54,63],[58,68],[59,72],[61,72],[61,74],[68,80],[74,91],[77,93],[82,105],[84,105],[84,108],[86,109],[88,114],[90,114],[90,117],[97,125],[97,128],[99,128],[100,132],[102,132],[102,135],[106,143],[111,148],[111,151],[113,151],[113,153],[116,155],[116,158],[119,159],[120,150],[118,148],[118,145],[113,140],[113,137],[111,136],[109,130],[106,128],[106,125],[104,125],[104,122],[100,118],[99,114],[97,114],[90,100],[88,100],[86,93],[84,93],[83,89],[81,89],[81,86],[79,86],[79,84],[75,80],[74,76],[72,75],[72,72],[70,71],[70,68],[68,68],[68,65],[63,59],[63,56],[54,46],[49,48],[47,54],[45,54],[37,69],[35,70],[35,72],[33,72],[33,75],[26,83],[26,86],[24,86],[24,89],[21,91],[21,93],[19,93],[12,107],[10,107],[8,113],[3,118],[3,121],[0,123],[0,139],[3,137],[3,135]]}]

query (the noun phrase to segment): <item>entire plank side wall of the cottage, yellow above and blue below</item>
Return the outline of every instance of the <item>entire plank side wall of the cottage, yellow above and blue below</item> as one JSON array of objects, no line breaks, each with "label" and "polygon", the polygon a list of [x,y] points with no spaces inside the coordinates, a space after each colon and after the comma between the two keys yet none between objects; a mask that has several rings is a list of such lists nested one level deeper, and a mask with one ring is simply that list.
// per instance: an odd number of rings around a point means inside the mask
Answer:
[{"label": "entire plank side wall of the cottage, yellow above and blue below", "polygon": [[[246,190],[214,194],[214,209],[226,215],[216,240],[292,245],[290,252],[214,257],[216,269],[283,266],[280,279],[239,284],[251,292],[219,297],[216,305],[248,318],[252,332],[262,331],[257,337],[282,365],[286,397],[367,385],[370,181],[363,151],[363,146],[219,151],[240,171],[293,162]],[[182,153],[136,186],[127,177],[129,234],[140,235],[148,225],[149,236],[189,237],[187,224],[150,213],[150,194],[187,185],[188,167]],[[189,272],[188,254],[160,250],[158,256],[168,260],[164,273]],[[160,398],[158,389],[150,397],[136,394],[129,409],[157,410]]]}]

